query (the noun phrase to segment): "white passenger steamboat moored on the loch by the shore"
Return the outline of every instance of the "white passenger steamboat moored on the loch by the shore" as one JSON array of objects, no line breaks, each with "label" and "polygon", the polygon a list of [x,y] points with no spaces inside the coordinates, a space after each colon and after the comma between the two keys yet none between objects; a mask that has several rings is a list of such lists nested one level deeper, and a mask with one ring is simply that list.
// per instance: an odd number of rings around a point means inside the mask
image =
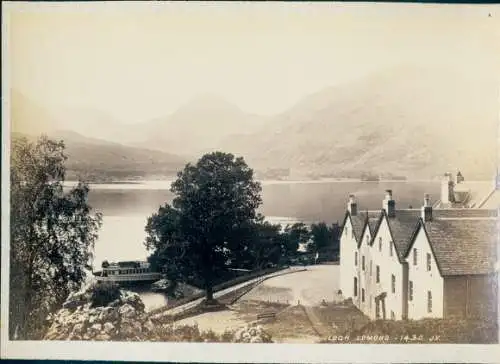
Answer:
[{"label": "white passenger steamboat moored on the loch by the shore", "polygon": [[102,263],[102,271],[94,272],[98,282],[141,283],[154,282],[162,278],[161,273],[153,272],[151,265],[143,261]]}]

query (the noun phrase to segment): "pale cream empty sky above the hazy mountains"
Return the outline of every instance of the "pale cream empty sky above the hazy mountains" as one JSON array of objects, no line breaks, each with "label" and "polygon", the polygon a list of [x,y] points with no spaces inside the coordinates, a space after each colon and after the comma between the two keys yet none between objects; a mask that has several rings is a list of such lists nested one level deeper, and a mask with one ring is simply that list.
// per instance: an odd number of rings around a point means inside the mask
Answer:
[{"label": "pale cream empty sky above the hazy mountains", "polygon": [[[49,109],[135,123],[200,94],[279,113],[400,64],[500,70],[500,7],[363,3],[2,3],[9,84]],[[491,16],[488,16],[491,14]],[[4,37],[4,35],[3,35]]]}]

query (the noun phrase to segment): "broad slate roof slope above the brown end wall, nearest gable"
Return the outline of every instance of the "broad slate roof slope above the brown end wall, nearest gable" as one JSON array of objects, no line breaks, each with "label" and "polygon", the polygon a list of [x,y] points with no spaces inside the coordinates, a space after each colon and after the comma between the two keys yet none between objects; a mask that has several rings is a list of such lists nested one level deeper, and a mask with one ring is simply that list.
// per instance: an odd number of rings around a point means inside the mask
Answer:
[{"label": "broad slate roof slope above the brown end wall, nearest gable", "polygon": [[495,271],[498,222],[485,219],[434,219],[425,228],[442,276]]}]

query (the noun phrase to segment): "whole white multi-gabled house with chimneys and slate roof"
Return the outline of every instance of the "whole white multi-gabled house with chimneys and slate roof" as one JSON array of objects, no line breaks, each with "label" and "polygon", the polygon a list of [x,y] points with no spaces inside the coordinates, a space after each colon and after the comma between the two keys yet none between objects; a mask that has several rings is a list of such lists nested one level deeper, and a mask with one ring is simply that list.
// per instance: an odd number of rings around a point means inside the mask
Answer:
[{"label": "whole white multi-gabled house with chimneys and slate roof", "polygon": [[398,210],[390,190],[381,211],[357,210],[351,195],[340,282],[343,296],[367,316],[400,320],[495,311],[496,210],[433,209],[428,195],[421,209]]}]

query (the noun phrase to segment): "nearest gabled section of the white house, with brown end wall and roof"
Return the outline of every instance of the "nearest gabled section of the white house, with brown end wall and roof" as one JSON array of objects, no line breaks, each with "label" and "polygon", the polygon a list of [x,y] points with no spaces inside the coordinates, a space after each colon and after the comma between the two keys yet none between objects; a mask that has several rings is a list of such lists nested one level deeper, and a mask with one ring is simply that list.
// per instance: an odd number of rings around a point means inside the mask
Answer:
[{"label": "nearest gabled section of the white house, with brown end wall and roof", "polygon": [[491,212],[420,220],[406,254],[408,318],[496,317],[498,218]]}]

